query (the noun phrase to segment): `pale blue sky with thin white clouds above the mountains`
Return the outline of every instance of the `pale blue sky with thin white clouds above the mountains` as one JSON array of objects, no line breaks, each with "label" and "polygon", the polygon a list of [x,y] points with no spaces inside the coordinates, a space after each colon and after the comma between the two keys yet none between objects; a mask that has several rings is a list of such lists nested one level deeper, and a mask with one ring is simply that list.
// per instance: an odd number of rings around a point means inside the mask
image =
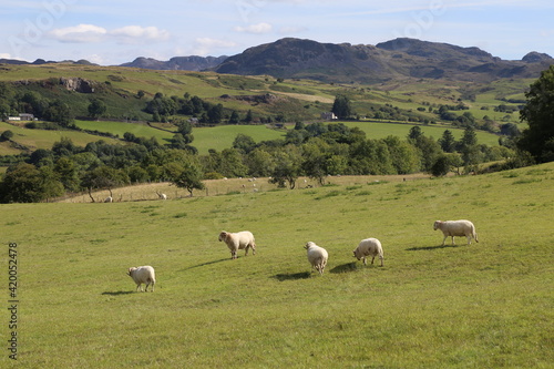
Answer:
[{"label": "pale blue sky with thin white clouds above the mountains", "polygon": [[283,38],[377,44],[397,38],[554,57],[552,0],[2,0],[0,59],[235,55]]}]

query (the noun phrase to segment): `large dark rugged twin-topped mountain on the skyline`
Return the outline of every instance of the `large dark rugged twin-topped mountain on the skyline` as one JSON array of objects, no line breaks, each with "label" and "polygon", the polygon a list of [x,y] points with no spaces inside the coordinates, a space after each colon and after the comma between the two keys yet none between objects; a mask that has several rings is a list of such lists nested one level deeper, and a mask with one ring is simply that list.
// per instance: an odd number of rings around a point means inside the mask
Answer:
[{"label": "large dark rugged twin-topped mountain on the skyline", "polygon": [[407,38],[377,45],[287,38],[249,48],[213,71],[326,82],[372,83],[407,76],[490,82],[500,78],[537,78],[551,64],[554,59],[547,54],[530,53],[524,60],[507,61],[479,48]]}]

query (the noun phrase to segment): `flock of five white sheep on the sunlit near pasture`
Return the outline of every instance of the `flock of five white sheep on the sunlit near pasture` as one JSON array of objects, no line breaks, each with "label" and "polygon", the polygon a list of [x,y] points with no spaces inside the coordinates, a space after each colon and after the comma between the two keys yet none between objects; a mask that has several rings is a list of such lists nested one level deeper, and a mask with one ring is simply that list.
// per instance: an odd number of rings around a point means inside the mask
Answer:
[{"label": "flock of five white sheep on the sunlit near pasture", "polygon": [[[478,234],[475,232],[475,226],[470,221],[447,221],[434,222],[433,229],[441,229],[444,238],[442,239],[442,246],[448,237],[452,237],[452,245],[454,245],[454,237],[466,237],[468,245],[471,244],[471,239],[475,239],[479,243]],[[225,242],[230,250],[230,258],[237,258],[237,252],[239,249],[245,250],[245,256],[248,255],[248,250],[252,248],[253,255],[256,255],[256,242],[254,235],[249,230],[243,230],[238,233],[230,233],[223,230],[219,233],[219,242]],[[324,269],[327,265],[329,254],[327,250],[312,242],[308,242],[304,246],[307,250],[308,262],[311,265],[311,271],[317,270],[320,275],[324,274]],[[381,266],[383,266],[383,250],[381,243],[377,238],[366,238],[360,242],[358,247],[355,248],[353,257],[358,260],[362,260],[363,265],[367,265],[367,257],[371,256],[371,264],[377,256],[381,260]],[[140,266],[129,268],[127,275],[133,278],[136,284],[136,290],[143,290],[142,285],[146,285],[145,291],[148,290],[148,286],[152,286],[151,291],[154,291],[154,285],[156,284],[156,276],[154,268],[151,266]]]}]

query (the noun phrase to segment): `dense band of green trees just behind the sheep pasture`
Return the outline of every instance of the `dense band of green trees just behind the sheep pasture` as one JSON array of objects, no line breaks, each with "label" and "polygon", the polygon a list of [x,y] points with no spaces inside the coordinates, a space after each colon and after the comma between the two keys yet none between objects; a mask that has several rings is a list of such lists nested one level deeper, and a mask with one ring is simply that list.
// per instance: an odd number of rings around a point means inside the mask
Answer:
[{"label": "dense band of green trees just behind the sheep pasture", "polygon": [[298,122],[284,139],[256,143],[238,134],[232,147],[198,155],[192,146],[192,126],[183,122],[167,144],[155,139],[124,135],[127,145],[104,141],[76,146],[62,139],[52,148],[39,148],[22,163],[12,165],[0,183],[0,201],[41,202],[65,193],[112,191],[147,182],[171,182],[189,194],[203,188],[202,181],[223,177],[271,177],[279,186],[295,188],[299,176],[320,184],[328,175],[410,174],[445,175],[472,171],[481,162],[513,155],[504,146],[478,143],[468,127],[456,141],[450,130],[440,140],[413,126],[406,139],[367,139],[342,123]]}]

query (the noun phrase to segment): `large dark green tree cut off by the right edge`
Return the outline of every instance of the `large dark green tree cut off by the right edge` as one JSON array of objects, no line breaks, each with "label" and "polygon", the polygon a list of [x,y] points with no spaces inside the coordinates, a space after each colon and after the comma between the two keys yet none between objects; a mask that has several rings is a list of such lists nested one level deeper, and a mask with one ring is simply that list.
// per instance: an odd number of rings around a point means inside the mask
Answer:
[{"label": "large dark green tree cut off by the right edge", "polygon": [[520,114],[529,129],[523,131],[517,147],[530,152],[537,162],[554,161],[554,65],[531,84],[525,98]]}]

